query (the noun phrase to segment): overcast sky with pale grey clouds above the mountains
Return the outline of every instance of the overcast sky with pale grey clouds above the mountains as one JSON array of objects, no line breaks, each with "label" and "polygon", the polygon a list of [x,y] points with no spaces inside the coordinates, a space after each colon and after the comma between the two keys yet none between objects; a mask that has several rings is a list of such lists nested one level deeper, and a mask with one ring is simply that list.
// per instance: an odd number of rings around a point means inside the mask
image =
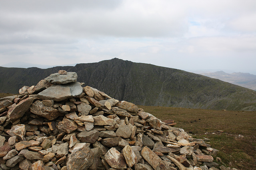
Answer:
[{"label": "overcast sky with pale grey clouds above the mountains", "polygon": [[255,0],[0,0],[0,65],[116,57],[256,74],[255,9]]}]

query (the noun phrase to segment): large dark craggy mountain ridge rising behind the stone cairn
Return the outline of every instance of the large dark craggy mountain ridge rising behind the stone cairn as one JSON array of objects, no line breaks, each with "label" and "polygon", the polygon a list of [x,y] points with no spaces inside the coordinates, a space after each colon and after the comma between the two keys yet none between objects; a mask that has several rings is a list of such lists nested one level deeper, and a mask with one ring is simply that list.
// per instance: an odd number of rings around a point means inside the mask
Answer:
[{"label": "large dark craggy mountain ridge rising behind the stone cairn", "polygon": [[256,91],[173,68],[111,59],[53,68],[0,67],[0,92],[18,93],[58,70],[77,72],[78,82],[137,105],[256,110]]}]

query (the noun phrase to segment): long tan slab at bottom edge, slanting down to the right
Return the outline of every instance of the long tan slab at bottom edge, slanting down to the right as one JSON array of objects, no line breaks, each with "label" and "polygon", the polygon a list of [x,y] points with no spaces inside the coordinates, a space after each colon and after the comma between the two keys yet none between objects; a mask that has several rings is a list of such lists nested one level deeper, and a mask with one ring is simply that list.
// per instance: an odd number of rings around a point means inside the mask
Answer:
[{"label": "long tan slab at bottom edge, slanting down to the right", "polygon": [[163,160],[148,147],[142,149],[141,156],[150,164],[150,166],[152,166],[152,168],[154,168],[154,170],[159,168],[161,170],[166,170]]}]

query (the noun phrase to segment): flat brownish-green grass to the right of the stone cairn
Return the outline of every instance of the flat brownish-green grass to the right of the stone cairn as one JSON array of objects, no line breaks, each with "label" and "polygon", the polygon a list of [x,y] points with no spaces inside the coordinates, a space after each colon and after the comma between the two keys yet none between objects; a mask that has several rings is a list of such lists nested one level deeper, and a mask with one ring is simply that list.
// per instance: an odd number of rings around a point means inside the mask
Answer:
[{"label": "flat brownish-green grass to the right of the stone cairn", "polygon": [[184,129],[194,138],[210,139],[212,148],[220,150],[217,157],[224,166],[256,169],[256,111],[138,107],[161,120],[173,119],[177,123],[174,127]]}]

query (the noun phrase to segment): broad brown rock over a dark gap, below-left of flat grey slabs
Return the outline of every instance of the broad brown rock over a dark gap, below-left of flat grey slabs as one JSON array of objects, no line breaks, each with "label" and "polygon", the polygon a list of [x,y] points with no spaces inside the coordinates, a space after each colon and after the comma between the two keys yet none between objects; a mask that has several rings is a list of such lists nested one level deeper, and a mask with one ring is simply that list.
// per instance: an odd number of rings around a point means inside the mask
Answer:
[{"label": "broad brown rock over a dark gap, below-left of flat grey slabs", "polygon": [[58,111],[58,109],[45,106],[40,100],[37,100],[30,106],[30,111],[36,115],[45,117],[48,120],[54,120],[57,117],[63,115],[60,113],[60,111]]}]

